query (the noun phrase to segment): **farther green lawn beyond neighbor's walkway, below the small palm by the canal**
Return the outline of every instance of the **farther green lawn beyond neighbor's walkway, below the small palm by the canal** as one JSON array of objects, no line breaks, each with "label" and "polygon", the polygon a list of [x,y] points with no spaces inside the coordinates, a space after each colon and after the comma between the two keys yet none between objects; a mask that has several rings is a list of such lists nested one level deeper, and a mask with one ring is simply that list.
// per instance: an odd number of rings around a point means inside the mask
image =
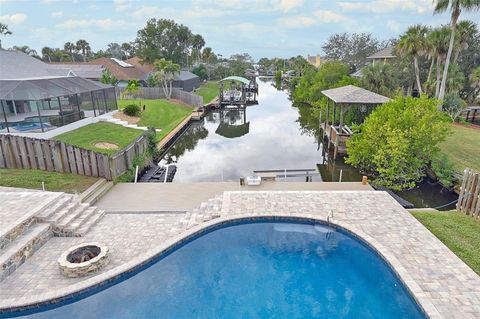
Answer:
[{"label": "farther green lawn beyond neighbor's walkway, below the small palm by the canal", "polygon": [[161,128],[157,132],[157,141],[160,141],[180,122],[182,122],[193,111],[191,107],[175,104],[167,100],[119,100],[119,108],[122,109],[128,104],[145,105],[145,111],[140,116],[139,125]]}]

